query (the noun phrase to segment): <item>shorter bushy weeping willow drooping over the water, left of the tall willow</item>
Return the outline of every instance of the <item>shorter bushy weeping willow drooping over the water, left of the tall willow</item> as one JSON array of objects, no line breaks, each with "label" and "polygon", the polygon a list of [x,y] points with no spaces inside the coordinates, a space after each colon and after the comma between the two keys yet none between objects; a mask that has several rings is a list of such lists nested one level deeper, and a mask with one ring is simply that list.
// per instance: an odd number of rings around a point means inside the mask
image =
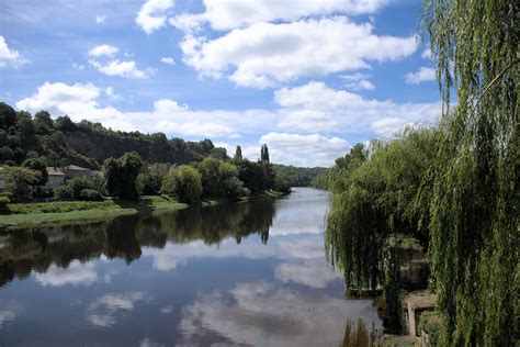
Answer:
[{"label": "shorter bushy weeping willow drooping over the water, left of the tall willow", "polygon": [[326,250],[344,273],[347,293],[385,281],[383,253],[391,234],[412,236],[427,245],[415,199],[434,158],[438,134],[437,128],[407,128],[392,141],[374,142],[369,158],[353,152],[346,157],[348,165],[332,169]]}]

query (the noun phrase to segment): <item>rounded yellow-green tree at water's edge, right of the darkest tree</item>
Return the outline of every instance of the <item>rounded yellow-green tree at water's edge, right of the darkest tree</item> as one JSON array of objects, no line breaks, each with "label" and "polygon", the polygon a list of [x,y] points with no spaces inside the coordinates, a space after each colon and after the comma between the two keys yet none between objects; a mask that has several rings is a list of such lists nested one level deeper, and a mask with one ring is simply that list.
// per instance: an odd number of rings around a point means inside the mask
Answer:
[{"label": "rounded yellow-green tree at water's edge, right of the darkest tree", "polygon": [[202,194],[202,176],[194,168],[181,165],[165,175],[161,191],[176,195],[180,202],[196,203]]}]

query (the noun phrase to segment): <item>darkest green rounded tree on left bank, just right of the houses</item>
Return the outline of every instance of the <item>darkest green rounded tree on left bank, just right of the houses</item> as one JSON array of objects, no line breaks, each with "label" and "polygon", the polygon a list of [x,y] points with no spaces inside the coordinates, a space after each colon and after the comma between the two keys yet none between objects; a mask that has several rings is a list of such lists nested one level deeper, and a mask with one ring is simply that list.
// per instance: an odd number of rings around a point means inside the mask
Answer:
[{"label": "darkest green rounded tree on left bank, just right of the houses", "polygon": [[136,179],[142,166],[143,161],[137,153],[125,153],[121,158],[106,159],[103,170],[109,194],[122,200],[136,200]]}]

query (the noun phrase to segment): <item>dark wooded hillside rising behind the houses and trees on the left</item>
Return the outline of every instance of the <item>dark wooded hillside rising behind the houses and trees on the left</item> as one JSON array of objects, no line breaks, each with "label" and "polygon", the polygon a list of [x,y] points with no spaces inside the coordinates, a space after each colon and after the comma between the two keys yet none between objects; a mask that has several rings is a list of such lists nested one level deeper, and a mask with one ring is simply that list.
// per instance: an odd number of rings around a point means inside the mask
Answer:
[{"label": "dark wooded hillside rising behind the houses and trees on the left", "polygon": [[211,154],[224,155],[210,139],[168,139],[165,134],[143,134],[105,128],[100,123],[74,123],[68,116],[53,120],[39,111],[34,117],[0,102],[0,164],[20,165],[27,156],[45,159],[49,166],[79,165],[99,169],[109,157],[137,152],[148,163],[185,164]]}]

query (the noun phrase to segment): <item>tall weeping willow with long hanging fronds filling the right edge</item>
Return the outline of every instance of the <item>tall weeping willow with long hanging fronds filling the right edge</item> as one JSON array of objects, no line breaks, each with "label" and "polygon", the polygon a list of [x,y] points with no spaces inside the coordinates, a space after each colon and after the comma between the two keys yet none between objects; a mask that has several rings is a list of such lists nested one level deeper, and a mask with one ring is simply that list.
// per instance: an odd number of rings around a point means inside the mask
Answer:
[{"label": "tall weeping willow with long hanging fronds filling the right edge", "polygon": [[519,13],[511,0],[423,7],[444,104],[429,227],[445,345],[519,343]]}]

